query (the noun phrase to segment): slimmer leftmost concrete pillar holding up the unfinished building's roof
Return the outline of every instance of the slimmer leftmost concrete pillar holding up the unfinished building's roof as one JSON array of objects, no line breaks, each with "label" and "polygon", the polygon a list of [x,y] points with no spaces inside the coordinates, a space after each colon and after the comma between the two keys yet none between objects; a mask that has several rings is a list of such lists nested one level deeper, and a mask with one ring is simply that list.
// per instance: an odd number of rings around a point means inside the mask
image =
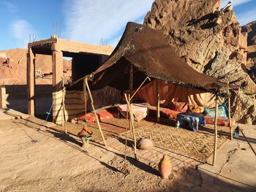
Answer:
[{"label": "slimmer leftmost concrete pillar holding up the unfinished building's roof", "polygon": [[27,91],[28,91],[28,113],[34,116],[34,69],[35,69],[35,54],[29,48],[26,58],[27,64]]}]

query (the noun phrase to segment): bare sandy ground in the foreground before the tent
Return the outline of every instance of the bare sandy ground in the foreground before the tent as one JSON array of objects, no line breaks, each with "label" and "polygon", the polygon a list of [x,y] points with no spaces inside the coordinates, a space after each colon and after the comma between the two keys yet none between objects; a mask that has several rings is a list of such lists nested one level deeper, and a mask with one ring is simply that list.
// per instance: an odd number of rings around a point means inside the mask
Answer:
[{"label": "bare sandy ground in the foreground before the tent", "polygon": [[[256,148],[256,127],[245,133]],[[91,142],[86,153],[80,145],[36,120],[1,120],[0,191],[256,191],[256,157],[243,139],[226,142],[215,167],[184,167],[165,180],[133,158],[125,177],[118,151]]]}]

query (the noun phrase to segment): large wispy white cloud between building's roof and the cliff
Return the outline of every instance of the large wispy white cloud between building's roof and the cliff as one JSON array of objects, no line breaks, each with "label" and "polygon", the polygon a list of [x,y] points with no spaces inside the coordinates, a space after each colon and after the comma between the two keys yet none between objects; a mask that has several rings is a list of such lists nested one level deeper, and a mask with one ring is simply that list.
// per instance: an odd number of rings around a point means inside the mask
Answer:
[{"label": "large wispy white cloud between building's roof and the cliff", "polygon": [[116,45],[128,21],[141,20],[154,0],[66,0],[68,39],[99,44],[100,38]]}]

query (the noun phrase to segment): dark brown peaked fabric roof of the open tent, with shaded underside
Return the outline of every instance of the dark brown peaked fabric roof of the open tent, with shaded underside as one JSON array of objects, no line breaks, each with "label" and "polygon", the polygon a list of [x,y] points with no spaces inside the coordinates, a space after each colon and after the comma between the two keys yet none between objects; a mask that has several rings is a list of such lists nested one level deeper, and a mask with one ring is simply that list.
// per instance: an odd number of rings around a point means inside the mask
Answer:
[{"label": "dark brown peaked fabric roof of the open tent, with shaded underside", "polygon": [[[225,83],[218,82],[214,77],[197,72],[187,65],[173,51],[160,31],[129,22],[108,60],[86,76],[91,79],[90,88],[95,90],[110,85],[123,91],[129,89],[130,64],[134,66],[134,88],[138,88],[147,76],[209,92],[215,92],[225,86]],[[84,78],[78,80],[75,87],[79,84],[81,86]]]}]

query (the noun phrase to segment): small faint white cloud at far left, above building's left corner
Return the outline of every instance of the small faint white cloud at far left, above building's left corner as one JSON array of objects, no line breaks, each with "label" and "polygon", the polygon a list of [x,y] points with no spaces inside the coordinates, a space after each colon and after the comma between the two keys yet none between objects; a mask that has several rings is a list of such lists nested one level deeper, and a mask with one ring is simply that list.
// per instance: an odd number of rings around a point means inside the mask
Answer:
[{"label": "small faint white cloud at far left, above building's left corner", "polygon": [[22,19],[10,23],[10,34],[17,40],[18,47],[27,47],[29,34],[35,34],[32,26]]}]

